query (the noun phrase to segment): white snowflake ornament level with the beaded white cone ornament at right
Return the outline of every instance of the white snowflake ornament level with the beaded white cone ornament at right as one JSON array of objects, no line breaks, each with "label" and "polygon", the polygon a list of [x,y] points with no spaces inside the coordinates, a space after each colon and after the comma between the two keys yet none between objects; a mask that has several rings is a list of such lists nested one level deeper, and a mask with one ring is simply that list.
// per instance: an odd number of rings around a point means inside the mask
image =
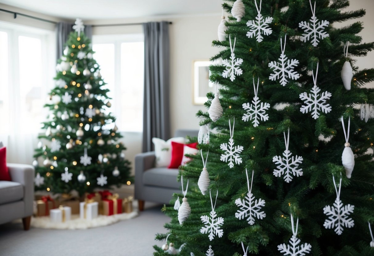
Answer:
[{"label": "white snowflake ornament level with the beaded white cone ornament at right", "polygon": [[294,176],[303,176],[303,169],[298,169],[299,165],[303,162],[303,157],[301,156],[292,156],[291,151],[288,150],[289,144],[289,128],[288,135],[286,138],[286,133],[283,132],[284,142],[286,144],[286,150],[283,152],[282,156],[274,156],[273,162],[277,165],[277,169],[274,169],[273,175],[275,177],[283,176],[285,182],[289,183],[292,181]]}]

